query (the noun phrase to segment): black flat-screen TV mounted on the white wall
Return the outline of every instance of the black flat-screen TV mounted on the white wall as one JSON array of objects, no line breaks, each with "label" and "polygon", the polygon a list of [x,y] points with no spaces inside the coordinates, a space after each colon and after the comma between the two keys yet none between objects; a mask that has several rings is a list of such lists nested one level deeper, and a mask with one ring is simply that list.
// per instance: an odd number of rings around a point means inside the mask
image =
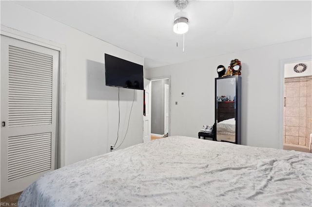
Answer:
[{"label": "black flat-screen TV mounted on the white wall", "polygon": [[106,86],[143,90],[143,66],[105,53]]}]

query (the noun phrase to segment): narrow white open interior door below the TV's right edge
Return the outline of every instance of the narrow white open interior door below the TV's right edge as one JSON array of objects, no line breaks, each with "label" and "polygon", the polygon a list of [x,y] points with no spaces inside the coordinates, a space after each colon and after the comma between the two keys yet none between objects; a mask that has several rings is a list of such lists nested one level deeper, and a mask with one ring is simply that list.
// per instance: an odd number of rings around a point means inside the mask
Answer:
[{"label": "narrow white open interior door below the TV's right edge", "polygon": [[144,78],[145,116],[143,116],[143,143],[151,141],[151,89],[152,82]]}]

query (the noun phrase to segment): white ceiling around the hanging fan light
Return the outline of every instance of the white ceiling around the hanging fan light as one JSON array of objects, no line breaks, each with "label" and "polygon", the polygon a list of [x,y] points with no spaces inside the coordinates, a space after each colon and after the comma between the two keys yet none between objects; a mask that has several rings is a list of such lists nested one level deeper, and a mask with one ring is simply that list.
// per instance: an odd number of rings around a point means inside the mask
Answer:
[{"label": "white ceiling around the hanging fan light", "polygon": [[144,57],[146,69],[312,36],[310,0],[190,0],[184,53],[174,0],[15,2]]}]

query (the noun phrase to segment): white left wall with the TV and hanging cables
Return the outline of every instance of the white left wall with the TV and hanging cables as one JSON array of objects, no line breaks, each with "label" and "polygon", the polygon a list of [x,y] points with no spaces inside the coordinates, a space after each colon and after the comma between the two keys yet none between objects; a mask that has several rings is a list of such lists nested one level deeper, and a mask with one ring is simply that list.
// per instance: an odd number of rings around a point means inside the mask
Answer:
[{"label": "white left wall with the TV and hanging cables", "polygon": [[[65,165],[109,152],[117,138],[118,89],[105,86],[104,53],[140,65],[144,59],[10,1],[1,1],[1,25],[66,46]],[[133,90],[121,88],[120,99],[119,141],[126,131]],[[142,108],[143,92],[136,90],[121,148],[142,142]]]}]

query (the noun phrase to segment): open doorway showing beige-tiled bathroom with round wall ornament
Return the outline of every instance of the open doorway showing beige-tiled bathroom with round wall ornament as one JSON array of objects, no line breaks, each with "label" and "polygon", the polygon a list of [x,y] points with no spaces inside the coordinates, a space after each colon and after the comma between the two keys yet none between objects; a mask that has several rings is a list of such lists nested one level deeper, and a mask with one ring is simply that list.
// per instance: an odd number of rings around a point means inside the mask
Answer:
[{"label": "open doorway showing beige-tiled bathroom with round wall ornament", "polygon": [[312,137],[312,61],[284,64],[283,149],[309,152]]}]

